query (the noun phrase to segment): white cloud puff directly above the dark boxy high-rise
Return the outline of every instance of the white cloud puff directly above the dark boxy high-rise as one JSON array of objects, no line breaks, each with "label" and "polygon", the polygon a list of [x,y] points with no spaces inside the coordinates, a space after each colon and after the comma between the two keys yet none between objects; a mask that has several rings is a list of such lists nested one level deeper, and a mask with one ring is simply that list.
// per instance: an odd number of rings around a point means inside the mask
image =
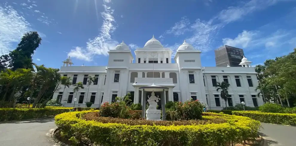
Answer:
[{"label": "white cloud puff directly above the dark boxy high-rise", "polygon": [[243,30],[243,32],[234,39],[223,38],[222,40],[225,45],[246,48],[256,35],[258,35],[257,32]]}]

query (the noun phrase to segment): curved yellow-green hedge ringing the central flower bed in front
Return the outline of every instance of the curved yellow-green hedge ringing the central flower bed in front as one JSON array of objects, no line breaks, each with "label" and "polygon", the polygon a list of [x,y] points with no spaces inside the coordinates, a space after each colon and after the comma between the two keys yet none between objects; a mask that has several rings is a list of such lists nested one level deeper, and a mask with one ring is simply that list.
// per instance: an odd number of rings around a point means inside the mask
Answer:
[{"label": "curved yellow-green hedge ringing the central flower bed in front", "polygon": [[[80,119],[91,111],[69,112],[55,117],[63,136],[74,143],[104,146],[217,146],[254,139],[260,122],[248,117],[211,113],[204,118],[225,118],[226,123],[181,126],[126,125]],[[213,116],[214,115],[214,116]]]}]

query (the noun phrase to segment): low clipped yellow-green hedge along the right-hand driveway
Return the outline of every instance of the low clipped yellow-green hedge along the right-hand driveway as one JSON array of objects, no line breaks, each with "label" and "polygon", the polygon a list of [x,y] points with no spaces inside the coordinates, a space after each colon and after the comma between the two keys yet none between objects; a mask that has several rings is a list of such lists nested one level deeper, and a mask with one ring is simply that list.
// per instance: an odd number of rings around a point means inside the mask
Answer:
[{"label": "low clipped yellow-green hedge along the right-hand driveway", "polygon": [[261,113],[249,111],[233,111],[232,114],[249,117],[263,123],[296,125],[296,114]]}]

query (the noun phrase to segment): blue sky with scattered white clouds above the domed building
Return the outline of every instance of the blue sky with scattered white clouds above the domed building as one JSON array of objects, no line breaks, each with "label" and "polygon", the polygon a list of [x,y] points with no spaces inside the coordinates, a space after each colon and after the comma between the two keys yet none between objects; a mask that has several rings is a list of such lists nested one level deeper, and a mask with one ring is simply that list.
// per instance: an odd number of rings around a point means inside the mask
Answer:
[{"label": "blue sky with scattered white clouds above the domed building", "polygon": [[244,49],[253,65],[296,47],[296,0],[1,0],[0,55],[22,34],[38,31],[34,63],[59,68],[106,66],[108,50],[122,40],[132,54],[155,35],[173,52],[185,39],[215,66],[214,49]]}]

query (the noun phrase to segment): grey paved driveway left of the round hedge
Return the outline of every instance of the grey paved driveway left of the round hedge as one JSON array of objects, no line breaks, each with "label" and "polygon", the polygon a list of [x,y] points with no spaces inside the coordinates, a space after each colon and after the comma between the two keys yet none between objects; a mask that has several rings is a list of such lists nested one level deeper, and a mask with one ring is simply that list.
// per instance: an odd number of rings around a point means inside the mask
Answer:
[{"label": "grey paved driveway left of the round hedge", "polygon": [[1,146],[59,146],[51,139],[54,119],[0,123]]}]

